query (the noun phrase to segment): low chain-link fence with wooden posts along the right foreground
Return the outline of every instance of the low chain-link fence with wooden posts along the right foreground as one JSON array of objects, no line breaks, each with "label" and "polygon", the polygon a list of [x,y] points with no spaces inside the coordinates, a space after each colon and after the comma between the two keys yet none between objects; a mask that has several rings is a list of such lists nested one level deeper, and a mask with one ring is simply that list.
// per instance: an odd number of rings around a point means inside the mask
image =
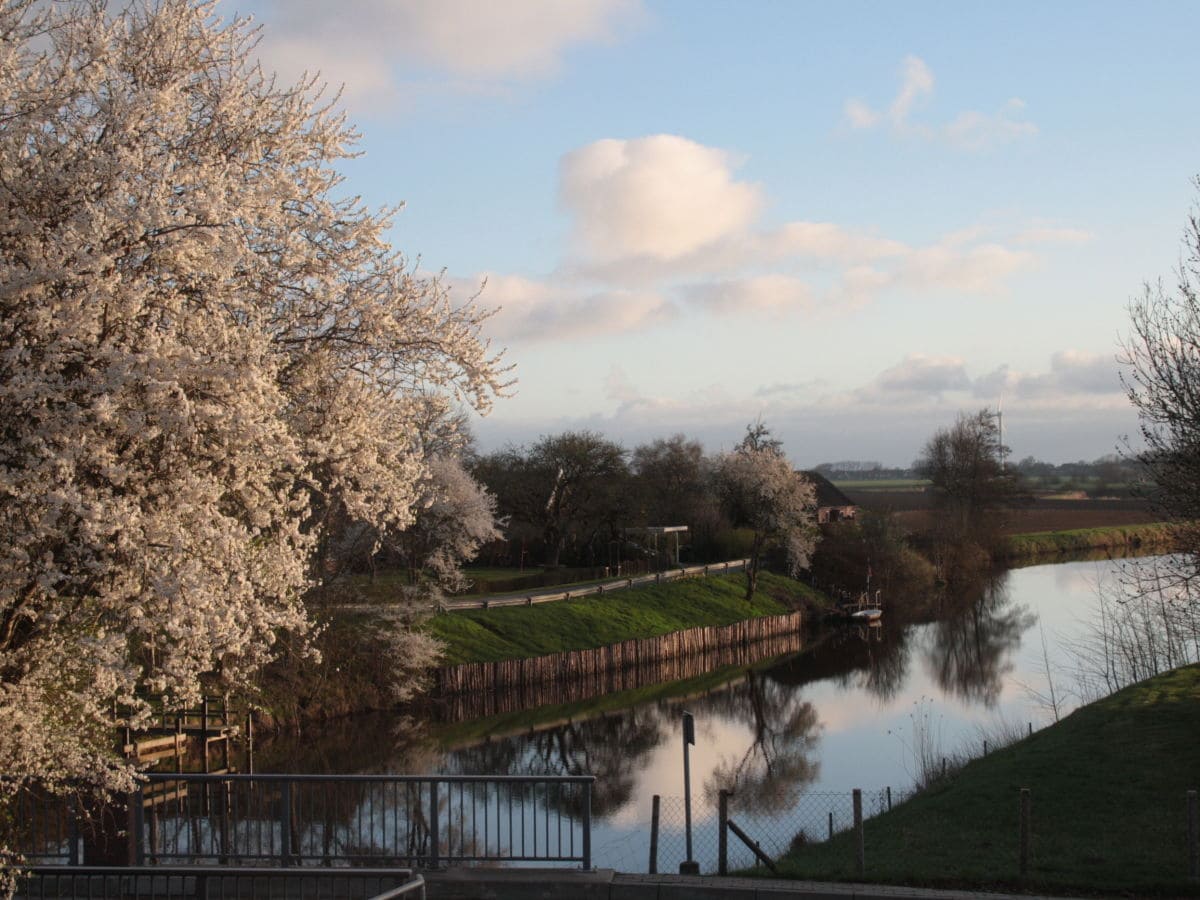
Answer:
[{"label": "low chain-link fence with wooden posts along the right foreground", "polygon": [[[862,827],[856,823],[856,794]],[[1076,802],[1066,805],[1043,793],[1040,808],[1032,794],[1025,788],[1006,791],[1001,803],[947,821],[935,815],[935,821],[917,827],[912,827],[911,812],[905,820],[900,811],[900,820],[886,816],[871,822],[910,799],[908,792],[901,796],[892,788],[787,797],[730,794],[716,803],[695,798],[690,853],[683,798],[654,797],[649,818],[638,822],[636,835],[622,835],[619,850],[625,871],[677,872],[690,859],[703,874],[736,872],[790,857],[792,875],[799,864],[799,871],[821,878],[936,871],[938,877],[953,874],[1014,883],[1049,878],[1087,884],[1094,878],[1100,878],[1094,883],[1118,878],[1130,886],[1200,889],[1195,791],[1145,804],[1156,815],[1118,830],[1104,815],[1080,812],[1094,811],[1092,791],[1073,792]],[[1129,815],[1136,818],[1135,810]],[[605,856],[601,847],[599,857]]]}]

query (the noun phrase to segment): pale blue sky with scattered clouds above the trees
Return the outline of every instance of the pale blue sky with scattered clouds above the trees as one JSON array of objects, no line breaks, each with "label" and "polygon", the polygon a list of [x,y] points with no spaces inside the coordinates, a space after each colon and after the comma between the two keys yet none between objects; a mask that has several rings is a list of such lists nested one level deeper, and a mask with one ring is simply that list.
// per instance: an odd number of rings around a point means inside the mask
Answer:
[{"label": "pale blue sky with scattered clouds above the trees", "polygon": [[342,166],[515,366],[482,450],[588,428],[907,466],[1003,408],[1114,452],[1129,301],[1196,202],[1193,2],[221,0],[341,86]]}]

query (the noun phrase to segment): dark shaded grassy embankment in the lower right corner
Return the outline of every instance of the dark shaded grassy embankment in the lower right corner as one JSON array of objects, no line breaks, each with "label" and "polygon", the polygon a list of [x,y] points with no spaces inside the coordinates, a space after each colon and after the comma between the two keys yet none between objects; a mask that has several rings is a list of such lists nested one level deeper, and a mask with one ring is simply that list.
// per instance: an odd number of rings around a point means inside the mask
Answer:
[{"label": "dark shaded grassy embankment in the lower right corner", "polygon": [[[866,876],[928,887],[1200,896],[1184,797],[1200,787],[1200,666],[1127,688],[974,760],[865,823]],[[1032,864],[1019,878],[1020,788]],[[863,881],[851,834],[780,860],[786,877]]]}]

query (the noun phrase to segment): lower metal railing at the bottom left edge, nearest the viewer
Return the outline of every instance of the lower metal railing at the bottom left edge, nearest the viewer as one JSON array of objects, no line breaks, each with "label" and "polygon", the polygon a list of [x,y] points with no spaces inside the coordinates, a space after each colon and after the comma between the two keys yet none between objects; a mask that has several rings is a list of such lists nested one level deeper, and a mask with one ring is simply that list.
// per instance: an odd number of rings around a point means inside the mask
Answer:
[{"label": "lower metal railing at the bottom left edge, nearest the viewer", "polygon": [[197,866],[25,870],[14,898],[89,900],[425,900],[425,880],[406,869],[265,869]]}]

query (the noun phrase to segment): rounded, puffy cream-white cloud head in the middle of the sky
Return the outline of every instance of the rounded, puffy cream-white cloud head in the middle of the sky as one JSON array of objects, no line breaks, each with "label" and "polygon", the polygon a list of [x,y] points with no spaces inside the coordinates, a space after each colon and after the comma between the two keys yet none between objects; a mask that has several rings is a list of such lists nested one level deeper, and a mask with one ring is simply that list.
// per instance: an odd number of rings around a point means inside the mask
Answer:
[{"label": "rounded, puffy cream-white cloud head in the middle of the sky", "polygon": [[598,140],[564,157],[559,196],[593,260],[673,260],[740,234],[762,206],[730,156],[673,134]]}]

